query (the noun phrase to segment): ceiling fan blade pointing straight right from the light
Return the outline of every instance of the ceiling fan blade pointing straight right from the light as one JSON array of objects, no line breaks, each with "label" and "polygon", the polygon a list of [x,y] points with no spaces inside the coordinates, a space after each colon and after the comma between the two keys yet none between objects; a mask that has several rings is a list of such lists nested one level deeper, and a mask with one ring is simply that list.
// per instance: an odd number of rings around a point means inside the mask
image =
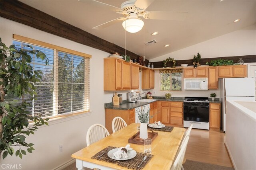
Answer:
[{"label": "ceiling fan blade pointing straight right from the light", "polygon": [[143,18],[151,20],[174,20],[184,21],[188,12],[162,12],[162,11],[147,11]]}]

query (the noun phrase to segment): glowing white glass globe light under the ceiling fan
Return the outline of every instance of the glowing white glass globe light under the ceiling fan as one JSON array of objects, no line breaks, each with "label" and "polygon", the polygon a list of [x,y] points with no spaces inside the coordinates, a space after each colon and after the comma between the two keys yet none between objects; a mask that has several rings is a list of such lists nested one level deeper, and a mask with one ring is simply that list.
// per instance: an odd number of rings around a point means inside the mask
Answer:
[{"label": "glowing white glass globe light under the ceiling fan", "polygon": [[143,28],[144,22],[137,18],[131,18],[123,21],[122,25],[126,31],[136,33]]}]

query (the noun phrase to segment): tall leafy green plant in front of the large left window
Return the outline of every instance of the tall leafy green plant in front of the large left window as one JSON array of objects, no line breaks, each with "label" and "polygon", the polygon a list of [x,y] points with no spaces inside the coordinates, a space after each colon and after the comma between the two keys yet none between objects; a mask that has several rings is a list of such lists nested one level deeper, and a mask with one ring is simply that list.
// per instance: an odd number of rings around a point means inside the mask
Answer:
[{"label": "tall leafy green plant in front of the large left window", "polygon": [[[32,63],[30,55],[48,64],[44,53],[30,45],[28,48],[15,49],[14,45],[8,48],[0,38],[0,154],[3,159],[8,154],[15,153],[22,158],[26,152],[32,153],[34,144],[26,141],[26,135],[34,134],[38,126],[48,125],[48,119],[32,116],[27,110],[35,98],[23,97],[36,96],[34,83],[40,82],[42,74],[29,64]],[[30,127],[29,121],[34,122]]]}]

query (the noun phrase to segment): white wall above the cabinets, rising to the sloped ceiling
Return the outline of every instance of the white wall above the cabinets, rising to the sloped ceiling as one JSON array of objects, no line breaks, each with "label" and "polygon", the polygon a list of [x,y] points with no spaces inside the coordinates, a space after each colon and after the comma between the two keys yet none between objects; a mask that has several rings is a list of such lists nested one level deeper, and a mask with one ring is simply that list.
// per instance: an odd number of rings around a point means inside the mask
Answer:
[{"label": "white wall above the cabinets, rising to the sloped ceiling", "polygon": [[255,55],[256,25],[156,57],[151,59],[150,62],[163,61],[169,57],[173,57],[176,60],[193,59],[197,53],[200,53],[202,58]]}]

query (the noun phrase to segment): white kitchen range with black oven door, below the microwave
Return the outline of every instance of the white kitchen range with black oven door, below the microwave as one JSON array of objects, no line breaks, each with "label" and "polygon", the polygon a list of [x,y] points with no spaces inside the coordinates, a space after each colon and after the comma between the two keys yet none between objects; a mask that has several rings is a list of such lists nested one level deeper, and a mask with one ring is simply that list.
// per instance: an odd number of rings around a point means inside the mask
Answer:
[{"label": "white kitchen range with black oven door, below the microwave", "polygon": [[209,130],[209,100],[204,97],[185,97],[183,102],[184,127]]}]

